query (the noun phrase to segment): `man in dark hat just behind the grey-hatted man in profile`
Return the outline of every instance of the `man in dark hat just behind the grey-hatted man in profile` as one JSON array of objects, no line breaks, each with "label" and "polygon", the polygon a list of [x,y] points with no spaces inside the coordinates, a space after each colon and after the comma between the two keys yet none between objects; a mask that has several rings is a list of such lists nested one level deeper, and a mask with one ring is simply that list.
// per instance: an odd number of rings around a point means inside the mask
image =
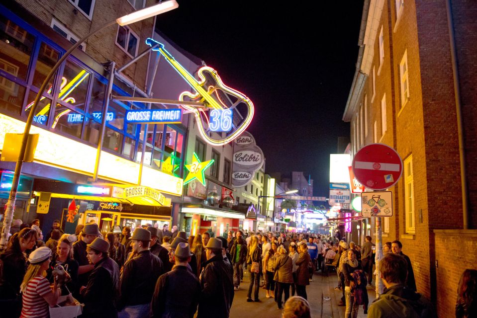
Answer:
[{"label": "man in dark hat just behind the grey-hatted man in profile", "polygon": [[90,272],[95,268],[88,260],[88,253],[86,251],[87,245],[93,242],[99,236],[99,228],[97,224],[85,224],[85,227],[80,233],[80,239],[73,243],[73,258],[78,261],[78,282],[79,286],[86,286],[88,284],[88,277]]}]

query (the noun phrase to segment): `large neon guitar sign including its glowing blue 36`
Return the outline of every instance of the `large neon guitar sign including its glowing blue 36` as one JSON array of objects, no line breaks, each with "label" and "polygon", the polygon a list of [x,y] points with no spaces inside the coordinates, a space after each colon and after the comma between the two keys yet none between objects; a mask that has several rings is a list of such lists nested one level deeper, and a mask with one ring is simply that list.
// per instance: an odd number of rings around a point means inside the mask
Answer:
[{"label": "large neon guitar sign including its glowing blue 36", "polygon": [[[195,93],[184,91],[179,95],[181,101],[195,101],[204,103],[207,110],[210,109],[210,120],[204,109],[193,106],[182,105],[186,110],[194,114],[200,136],[209,144],[214,146],[225,145],[240,136],[252,122],[254,106],[252,101],[241,92],[225,85],[217,72],[211,67],[204,66],[197,71],[199,80],[195,79],[174,57],[164,49],[164,44],[154,39],[148,38],[146,44],[155,46],[153,51],[161,53],[169,64],[182,76],[183,79],[195,90]],[[210,84],[211,83],[211,84]],[[227,105],[229,102],[229,106]],[[234,125],[232,120],[233,109],[239,104],[244,104],[247,109],[247,116]],[[209,132],[230,131],[225,138],[212,138]],[[221,136],[221,134],[219,134]]]}]

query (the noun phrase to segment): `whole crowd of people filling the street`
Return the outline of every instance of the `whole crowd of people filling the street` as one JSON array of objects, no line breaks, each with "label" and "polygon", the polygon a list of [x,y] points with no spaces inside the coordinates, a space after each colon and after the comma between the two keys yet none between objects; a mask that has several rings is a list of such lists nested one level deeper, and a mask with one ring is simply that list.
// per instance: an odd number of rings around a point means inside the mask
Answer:
[{"label": "whole crowd of people filling the street", "polygon": [[[55,223],[46,242],[38,220],[14,229],[0,254],[1,317],[48,318],[49,308],[67,296],[84,304],[85,318],[226,318],[248,273],[247,302],[261,303],[263,288],[282,317],[308,318],[306,289],[319,271],[336,271],[335,289],[342,292],[338,305],[346,306],[346,318],[356,318],[360,306],[372,318],[435,317],[416,292],[411,261],[397,240],[384,244],[385,289],[368,308],[375,253],[371,237],[363,246],[329,235],[261,231],[187,237],[167,225],[101,234],[95,223],[70,235]],[[476,317],[476,289],[477,271],[466,270],[456,317]]]}]

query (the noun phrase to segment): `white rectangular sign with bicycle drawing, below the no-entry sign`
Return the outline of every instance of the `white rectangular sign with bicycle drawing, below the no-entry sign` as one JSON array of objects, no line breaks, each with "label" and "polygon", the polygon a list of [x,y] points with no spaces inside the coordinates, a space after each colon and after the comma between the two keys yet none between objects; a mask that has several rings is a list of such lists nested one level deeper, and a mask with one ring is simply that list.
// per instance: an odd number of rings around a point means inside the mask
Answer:
[{"label": "white rectangular sign with bicycle drawing, below the no-entry sign", "polygon": [[392,210],[391,191],[361,193],[362,217],[392,217]]}]

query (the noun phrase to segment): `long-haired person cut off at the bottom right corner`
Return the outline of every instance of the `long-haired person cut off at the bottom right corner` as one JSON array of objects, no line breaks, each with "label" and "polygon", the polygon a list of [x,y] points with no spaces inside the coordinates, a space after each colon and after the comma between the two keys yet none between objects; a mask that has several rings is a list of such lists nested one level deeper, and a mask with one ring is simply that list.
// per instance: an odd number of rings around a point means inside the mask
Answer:
[{"label": "long-haired person cut off at the bottom right corner", "polygon": [[456,318],[477,317],[477,270],[466,269],[457,287]]}]

